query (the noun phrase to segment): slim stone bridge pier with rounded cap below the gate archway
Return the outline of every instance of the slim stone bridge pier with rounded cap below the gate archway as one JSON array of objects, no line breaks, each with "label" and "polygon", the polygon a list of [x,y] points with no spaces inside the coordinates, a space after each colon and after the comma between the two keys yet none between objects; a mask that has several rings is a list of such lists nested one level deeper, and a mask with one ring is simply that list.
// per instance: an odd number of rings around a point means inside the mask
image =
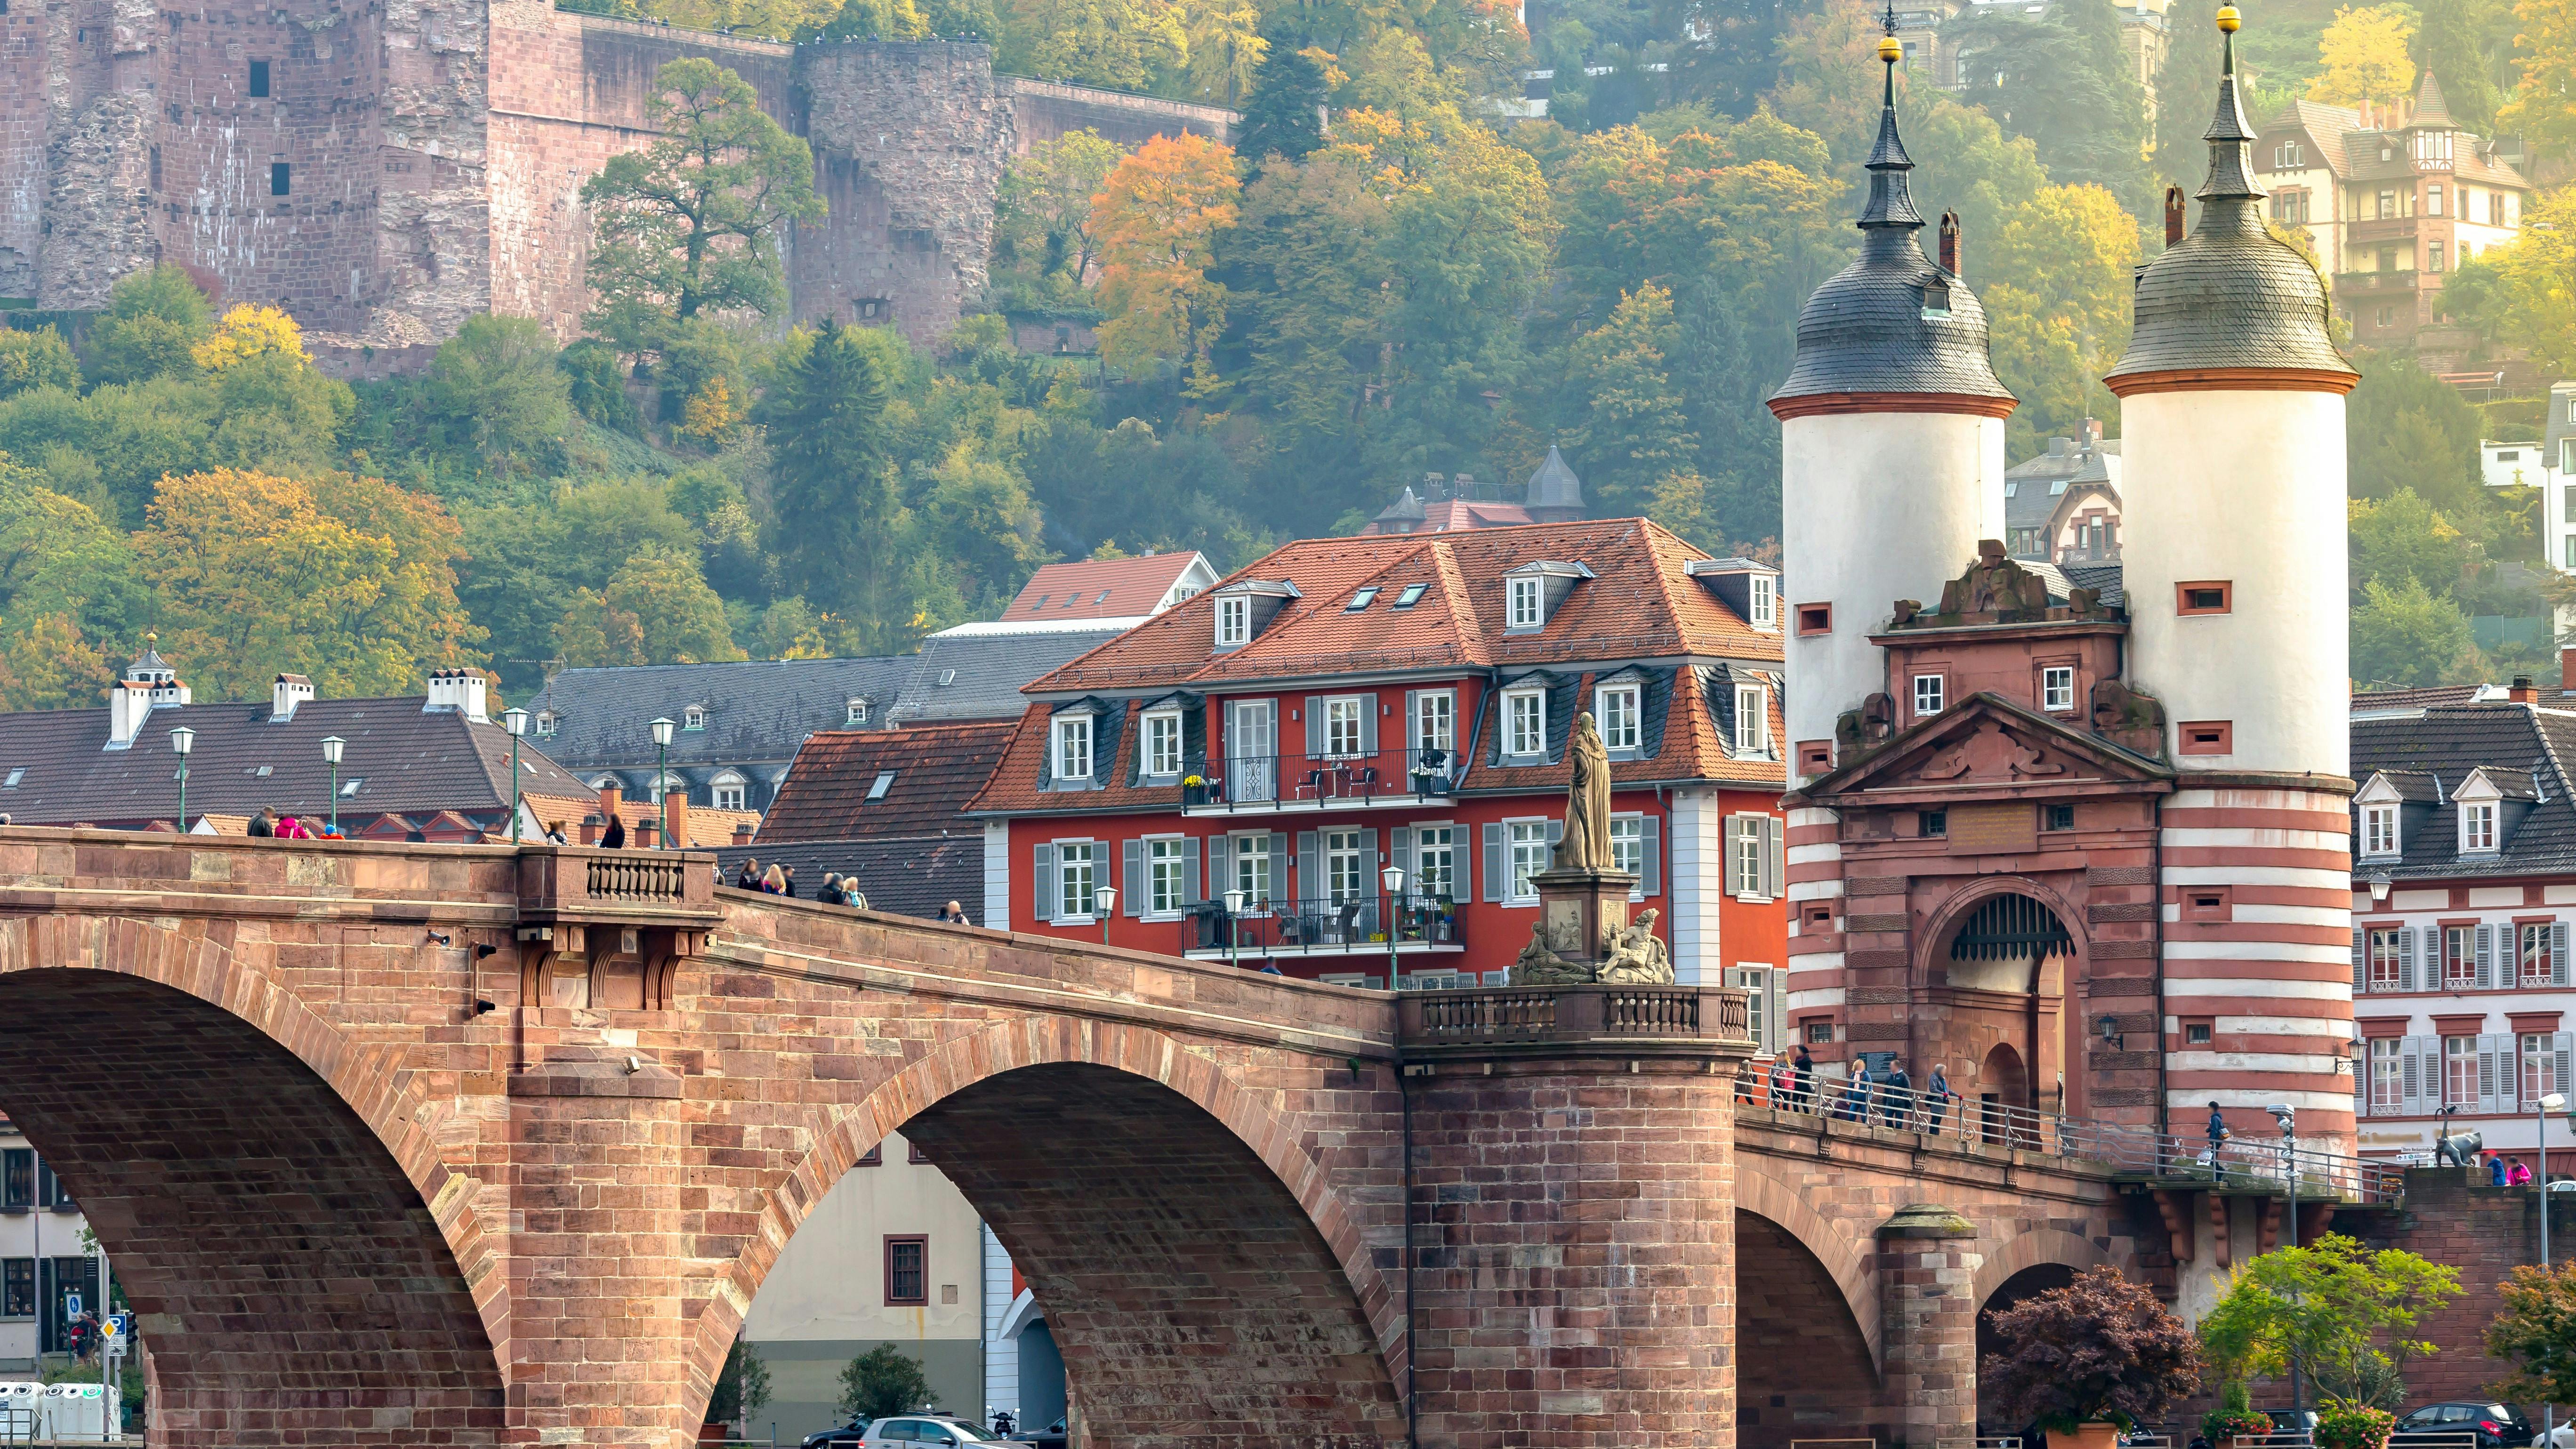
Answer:
[{"label": "slim stone bridge pier with rounded cap below the gate archway", "polygon": [[1914,1204],[1878,1227],[1880,1387],[1899,1444],[1976,1441],[1976,1225]]}]

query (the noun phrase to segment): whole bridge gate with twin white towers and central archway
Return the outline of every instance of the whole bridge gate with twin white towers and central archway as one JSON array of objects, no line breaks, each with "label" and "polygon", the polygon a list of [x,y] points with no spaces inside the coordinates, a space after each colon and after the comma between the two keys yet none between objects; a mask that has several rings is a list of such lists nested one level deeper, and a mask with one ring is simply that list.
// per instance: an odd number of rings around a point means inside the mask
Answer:
[{"label": "whole bridge gate with twin white towers and central archway", "polygon": [[[1788,1018],[1821,1062],[2352,1150],[2344,392],[2264,227],[2236,13],[2197,222],[2138,268],[2112,575],[2004,544],[2002,418],[1955,219],[1893,85],[1860,260],[1798,322],[1783,428]],[[1893,67],[1899,41],[1880,44]],[[2177,121],[2179,124],[2179,121]],[[2179,196],[2172,201],[2179,211]],[[2223,297],[2226,307],[2210,299]]]}]

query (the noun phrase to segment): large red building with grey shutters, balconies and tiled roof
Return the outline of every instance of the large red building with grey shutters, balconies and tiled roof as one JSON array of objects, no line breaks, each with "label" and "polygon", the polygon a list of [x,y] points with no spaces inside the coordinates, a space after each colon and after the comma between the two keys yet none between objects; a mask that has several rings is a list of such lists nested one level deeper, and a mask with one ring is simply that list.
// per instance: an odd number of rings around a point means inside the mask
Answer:
[{"label": "large red building with grey shutters, balconies and tiled roof", "polygon": [[1342,985],[1499,985],[1589,712],[1633,910],[1656,910],[1682,980],[1777,1000],[1767,565],[1638,518],[1311,539],[1028,696],[969,807],[987,926]]}]

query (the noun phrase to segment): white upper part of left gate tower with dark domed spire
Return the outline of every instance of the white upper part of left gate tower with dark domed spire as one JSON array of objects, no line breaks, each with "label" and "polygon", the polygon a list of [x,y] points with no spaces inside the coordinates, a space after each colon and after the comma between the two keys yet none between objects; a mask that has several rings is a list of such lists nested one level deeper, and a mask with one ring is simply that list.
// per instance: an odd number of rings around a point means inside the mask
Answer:
[{"label": "white upper part of left gate tower with dark domed spire", "polygon": [[[1886,688],[1870,645],[1899,596],[1942,580],[2002,536],[2004,415],[2014,400],[1986,358],[1986,312],[1922,253],[1896,134],[1896,59],[1870,152],[1860,260],[1798,312],[1798,361],[1770,397],[1780,418],[1783,632],[1790,786],[1829,768],[1834,724]],[[1847,763],[1847,761],[1837,761]]]}]

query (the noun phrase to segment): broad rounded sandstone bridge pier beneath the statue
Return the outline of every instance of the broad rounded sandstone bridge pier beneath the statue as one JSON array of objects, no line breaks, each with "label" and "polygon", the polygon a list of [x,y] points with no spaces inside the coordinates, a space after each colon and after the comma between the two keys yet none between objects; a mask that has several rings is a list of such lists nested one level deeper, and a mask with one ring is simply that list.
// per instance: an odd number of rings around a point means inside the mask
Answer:
[{"label": "broad rounded sandstone bridge pier beneath the statue", "polygon": [[1504,987],[1399,1011],[1417,1444],[1734,1449],[1747,998]]}]

